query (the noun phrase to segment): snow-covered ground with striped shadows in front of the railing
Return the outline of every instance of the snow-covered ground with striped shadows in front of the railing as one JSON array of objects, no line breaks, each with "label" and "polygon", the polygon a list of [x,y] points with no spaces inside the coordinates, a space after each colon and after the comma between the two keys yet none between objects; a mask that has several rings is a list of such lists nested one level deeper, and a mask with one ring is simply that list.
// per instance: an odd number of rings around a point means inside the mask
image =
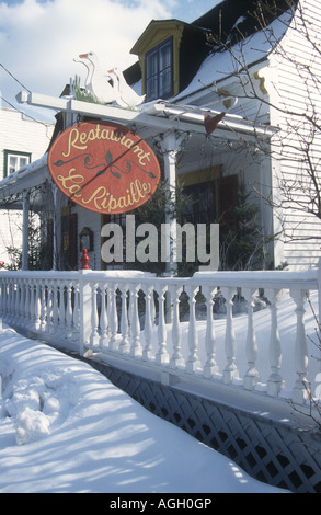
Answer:
[{"label": "snow-covered ground with striped shadows in front of the railing", "polygon": [[275,493],[85,363],[0,334],[0,493]]}]

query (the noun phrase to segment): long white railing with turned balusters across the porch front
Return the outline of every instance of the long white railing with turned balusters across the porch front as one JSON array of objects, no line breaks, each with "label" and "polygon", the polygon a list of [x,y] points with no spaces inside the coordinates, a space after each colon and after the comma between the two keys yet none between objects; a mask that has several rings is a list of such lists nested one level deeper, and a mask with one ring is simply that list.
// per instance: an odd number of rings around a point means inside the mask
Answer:
[{"label": "long white railing with turned balusters across the porch front", "polygon": [[[154,277],[141,272],[0,272],[4,323],[33,336],[62,344],[81,355],[116,357],[127,370],[140,366],[169,384],[197,378],[207,386],[234,385],[271,399],[280,397],[285,378],[277,316],[280,294],[293,299],[296,337],[291,346],[296,403],[307,399],[310,356],[305,328],[306,299],[319,288],[319,271],[217,272],[193,277]],[[254,323],[257,291],[270,310],[268,377],[262,381]],[[236,294],[245,344],[240,350],[233,316]],[[220,300],[219,300],[220,299]],[[223,300],[222,300],[223,299]],[[214,306],[225,307],[214,316]],[[223,339],[216,337],[219,325]],[[239,363],[245,363],[241,371]],[[266,363],[265,363],[266,365]],[[263,386],[262,386],[263,385]]]}]

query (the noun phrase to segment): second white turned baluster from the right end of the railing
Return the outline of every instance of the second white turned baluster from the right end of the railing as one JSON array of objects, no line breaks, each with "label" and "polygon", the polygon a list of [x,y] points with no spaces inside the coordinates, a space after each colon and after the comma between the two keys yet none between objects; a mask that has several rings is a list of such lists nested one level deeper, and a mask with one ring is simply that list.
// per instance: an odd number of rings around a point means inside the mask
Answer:
[{"label": "second white turned baluster from the right end of the railing", "polygon": [[271,374],[267,380],[267,394],[278,397],[284,381],[280,377],[282,348],[277,323],[277,302],[279,297],[278,289],[265,289],[265,295],[270,300],[271,310],[271,334],[270,334],[270,364]]}]

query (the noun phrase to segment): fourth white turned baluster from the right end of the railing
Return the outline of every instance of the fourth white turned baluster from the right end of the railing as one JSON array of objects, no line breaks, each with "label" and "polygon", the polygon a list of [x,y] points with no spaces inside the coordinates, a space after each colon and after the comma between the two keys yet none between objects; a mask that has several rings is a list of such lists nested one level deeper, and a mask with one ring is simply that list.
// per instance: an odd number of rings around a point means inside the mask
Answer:
[{"label": "fourth white turned baluster from the right end of the railing", "polygon": [[225,352],[227,364],[223,370],[223,382],[229,385],[239,377],[239,371],[236,365],[237,345],[233,329],[233,297],[237,293],[234,288],[221,288],[223,298],[226,299],[227,308],[227,323],[226,323],[226,337],[225,337]]}]

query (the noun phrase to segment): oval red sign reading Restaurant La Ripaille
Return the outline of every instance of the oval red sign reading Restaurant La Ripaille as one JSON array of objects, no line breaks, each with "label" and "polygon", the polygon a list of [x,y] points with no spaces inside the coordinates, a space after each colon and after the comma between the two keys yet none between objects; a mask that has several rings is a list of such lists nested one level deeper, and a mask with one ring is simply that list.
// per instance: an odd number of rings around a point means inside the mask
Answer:
[{"label": "oval red sign reading Restaurant La Ripaille", "polygon": [[127,127],[84,122],[58,136],[48,153],[57,186],[80,206],[118,214],[145,204],[160,181],[151,148]]}]

